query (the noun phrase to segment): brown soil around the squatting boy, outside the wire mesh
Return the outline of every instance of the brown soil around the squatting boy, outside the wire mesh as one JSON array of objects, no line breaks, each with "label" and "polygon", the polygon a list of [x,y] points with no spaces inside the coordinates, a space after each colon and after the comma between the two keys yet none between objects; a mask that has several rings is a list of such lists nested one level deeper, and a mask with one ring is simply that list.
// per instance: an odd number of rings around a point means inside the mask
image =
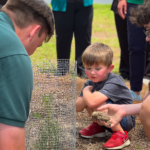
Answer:
[{"label": "brown soil around the squatting boy, outside the wire mesh", "polygon": [[[77,79],[77,96],[79,96],[85,82],[85,79]],[[128,81],[125,83],[130,89],[130,83]],[[141,91],[142,98],[144,97],[147,89],[148,85],[143,84],[143,89]],[[106,132],[107,136],[104,138],[81,138],[79,136],[79,131],[88,127],[91,123],[92,118],[88,116],[85,110],[76,114],[76,150],[103,150],[103,145],[110,138],[111,133],[109,132]],[[123,148],[123,150],[150,150],[150,142],[144,133],[143,126],[141,125],[138,116],[136,117],[135,127],[128,134],[131,144],[130,146]]]}]

